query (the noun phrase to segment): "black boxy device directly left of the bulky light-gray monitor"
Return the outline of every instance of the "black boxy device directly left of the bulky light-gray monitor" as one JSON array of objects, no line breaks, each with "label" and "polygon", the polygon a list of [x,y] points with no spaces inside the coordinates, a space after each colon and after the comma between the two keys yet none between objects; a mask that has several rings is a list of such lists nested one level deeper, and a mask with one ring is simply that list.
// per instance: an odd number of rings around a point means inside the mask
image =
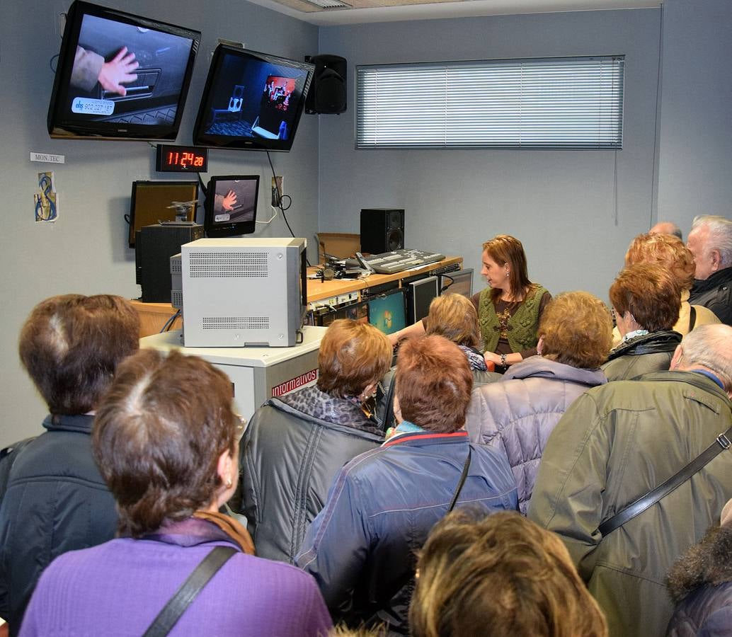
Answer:
[{"label": "black boxy device directly left of the bulky light-gray monitor", "polygon": [[171,256],[184,243],[203,239],[203,226],[144,226],[135,233],[135,283],[143,303],[171,302]]}]

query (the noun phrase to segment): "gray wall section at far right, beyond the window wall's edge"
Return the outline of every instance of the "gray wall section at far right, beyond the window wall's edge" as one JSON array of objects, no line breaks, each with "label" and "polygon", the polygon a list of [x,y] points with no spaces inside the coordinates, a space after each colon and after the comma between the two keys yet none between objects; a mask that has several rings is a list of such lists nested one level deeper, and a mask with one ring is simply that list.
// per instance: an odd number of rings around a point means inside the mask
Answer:
[{"label": "gray wall section at far right, beyond the window wall's edge", "polygon": [[732,217],[732,2],[667,0],[658,215]]}]

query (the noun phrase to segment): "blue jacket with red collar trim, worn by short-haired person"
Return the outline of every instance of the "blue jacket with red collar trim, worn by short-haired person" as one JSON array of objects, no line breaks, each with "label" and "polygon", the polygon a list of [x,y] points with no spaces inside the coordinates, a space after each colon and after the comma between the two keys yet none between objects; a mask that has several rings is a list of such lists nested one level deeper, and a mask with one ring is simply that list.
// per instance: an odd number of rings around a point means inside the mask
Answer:
[{"label": "blue jacket with red collar trim, worn by short-haired person", "polygon": [[401,433],[356,456],[336,475],[296,565],[315,577],[334,621],[388,622],[407,630],[415,553],[447,513],[472,456],[457,506],[516,510],[506,458],[468,442],[466,431]]}]

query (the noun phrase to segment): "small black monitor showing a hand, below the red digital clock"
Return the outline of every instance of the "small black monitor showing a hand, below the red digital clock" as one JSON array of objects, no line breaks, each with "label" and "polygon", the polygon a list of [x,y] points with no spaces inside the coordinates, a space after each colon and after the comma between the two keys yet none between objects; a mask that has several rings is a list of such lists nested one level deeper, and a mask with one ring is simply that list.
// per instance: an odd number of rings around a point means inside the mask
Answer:
[{"label": "small black monitor showing a hand, below the red digital clock", "polygon": [[259,175],[215,176],[206,189],[206,236],[252,234],[257,220]]}]

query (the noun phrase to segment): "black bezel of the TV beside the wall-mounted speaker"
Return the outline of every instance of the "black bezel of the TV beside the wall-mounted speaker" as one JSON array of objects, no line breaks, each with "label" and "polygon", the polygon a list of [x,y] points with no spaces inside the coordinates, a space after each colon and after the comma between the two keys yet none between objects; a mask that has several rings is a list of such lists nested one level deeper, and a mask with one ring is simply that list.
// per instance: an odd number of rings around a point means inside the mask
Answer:
[{"label": "black bezel of the TV beside the wall-mounted speaker", "polygon": [[[302,87],[302,94],[294,114],[293,126],[287,139],[280,140],[236,137],[232,135],[211,135],[203,130],[206,126],[209,108],[212,108],[212,92],[214,89],[214,83],[219,77],[221,65],[223,64],[223,60],[226,55],[254,59],[258,62],[266,62],[268,64],[281,64],[283,66],[307,72],[305,84]],[[305,111],[307,91],[310,89],[310,82],[313,80],[314,72],[315,64],[310,64],[310,62],[299,62],[298,60],[276,56],[272,53],[250,51],[249,49],[231,45],[218,45],[211,60],[209,73],[206,76],[206,85],[203,87],[203,93],[201,94],[201,103],[198,105],[198,114],[196,115],[195,124],[193,126],[193,144],[196,146],[209,146],[210,148],[289,152],[292,148],[300,120],[302,119],[302,113]]]}]

